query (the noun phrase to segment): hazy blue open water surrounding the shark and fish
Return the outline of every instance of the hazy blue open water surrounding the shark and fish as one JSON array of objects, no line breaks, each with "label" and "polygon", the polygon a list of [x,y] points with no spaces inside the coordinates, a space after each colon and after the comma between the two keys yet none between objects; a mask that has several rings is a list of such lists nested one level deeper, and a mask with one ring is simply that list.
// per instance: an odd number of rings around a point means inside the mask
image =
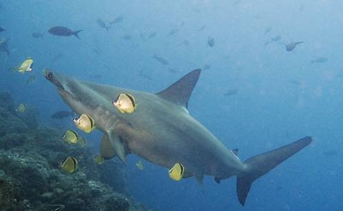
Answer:
[{"label": "hazy blue open water surrounding the shark and fish", "polygon": [[[0,38],[9,38],[10,56],[0,52],[0,88],[16,103],[40,112],[41,125],[73,127],[70,119],[52,121],[69,110],[42,70],[53,69],[91,82],[158,92],[189,71],[202,71],[189,112],[229,149],[245,160],[304,136],[314,142],[252,185],[246,206],[236,197],[236,179],[216,184],[205,177],[169,179],[167,170],[145,162],[139,171],[129,156],[130,194],[153,210],[341,210],[343,206],[343,96],[341,50],[343,3],[340,1],[67,1],[1,0]],[[97,24],[122,16],[109,32]],[[63,25],[81,40],[53,36]],[[199,29],[205,25],[204,29]],[[270,32],[265,30],[271,27]],[[168,36],[171,29],[178,32]],[[33,32],[45,33],[42,39]],[[147,38],[156,32],[154,38]],[[121,37],[129,34],[130,40]],[[277,35],[278,42],[264,43]],[[207,38],[215,38],[214,47]],[[189,45],[180,45],[188,40]],[[304,41],[294,51],[289,42]],[[93,49],[99,52],[95,53]],[[56,55],[61,55],[56,61]],[[154,54],[169,65],[154,60]],[[32,73],[12,73],[27,57]],[[325,57],[324,63],[311,60]],[[175,69],[171,73],[169,69]],[[140,73],[151,77],[141,77]],[[26,85],[29,75],[35,84]],[[92,75],[102,75],[97,79]],[[294,81],[296,83],[294,84]],[[223,93],[237,89],[236,95]],[[101,137],[88,139],[97,150]]]}]

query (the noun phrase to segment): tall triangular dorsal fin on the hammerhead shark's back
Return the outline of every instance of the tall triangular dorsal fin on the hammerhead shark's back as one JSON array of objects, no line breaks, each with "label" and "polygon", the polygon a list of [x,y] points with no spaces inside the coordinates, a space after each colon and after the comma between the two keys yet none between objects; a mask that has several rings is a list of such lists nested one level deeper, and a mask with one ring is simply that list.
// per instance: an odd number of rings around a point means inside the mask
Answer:
[{"label": "tall triangular dorsal fin on the hammerhead shark's back", "polygon": [[191,71],[162,92],[158,92],[157,95],[187,108],[189,97],[191,97],[193,88],[198,82],[200,72],[200,69]]}]

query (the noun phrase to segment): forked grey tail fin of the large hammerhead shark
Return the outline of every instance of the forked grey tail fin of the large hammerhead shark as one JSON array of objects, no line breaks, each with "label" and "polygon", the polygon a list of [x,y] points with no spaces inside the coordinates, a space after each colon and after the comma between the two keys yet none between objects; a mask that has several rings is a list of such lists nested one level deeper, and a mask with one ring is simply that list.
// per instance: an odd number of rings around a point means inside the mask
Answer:
[{"label": "forked grey tail fin of the large hammerhead shark", "polygon": [[289,145],[274,149],[266,153],[249,158],[244,162],[247,167],[246,173],[237,175],[237,197],[242,206],[246,202],[252,182],[261,177],[265,173],[274,169],[281,162],[293,156],[295,153],[303,149],[312,141],[311,137],[301,138]]}]

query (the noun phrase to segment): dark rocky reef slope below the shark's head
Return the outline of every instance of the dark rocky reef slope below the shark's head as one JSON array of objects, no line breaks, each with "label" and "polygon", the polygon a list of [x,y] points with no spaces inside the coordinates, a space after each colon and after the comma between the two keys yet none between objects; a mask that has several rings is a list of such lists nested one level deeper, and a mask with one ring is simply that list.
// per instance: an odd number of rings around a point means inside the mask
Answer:
[{"label": "dark rocky reef slope below the shark's head", "polygon": [[[2,96],[12,99],[0,93],[1,210],[146,210],[125,194],[121,163],[94,164],[90,149],[60,142],[54,129],[31,127]],[[67,156],[79,161],[75,173],[58,169]]]}]

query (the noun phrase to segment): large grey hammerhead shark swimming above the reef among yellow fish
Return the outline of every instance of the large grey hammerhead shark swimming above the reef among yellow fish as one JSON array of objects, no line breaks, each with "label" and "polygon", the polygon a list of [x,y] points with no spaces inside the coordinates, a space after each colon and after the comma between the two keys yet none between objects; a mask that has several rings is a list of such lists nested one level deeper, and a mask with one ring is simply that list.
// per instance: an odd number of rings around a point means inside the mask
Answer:
[{"label": "large grey hammerhead shark swimming above the reef among yellow fish", "polygon": [[[237,197],[242,206],[255,179],[311,142],[311,137],[305,137],[242,162],[237,149],[227,149],[187,111],[200,69],[157,94],[93,84],[52,71],[44,75],[74,112],[88,114],[97,129],[104,132],[102,149],[106,148],[103,143],[109,141],[106,149],[111,148],[113,156],[124,163],[128,153],[166,168],[179,162],[185,166],[184,177],[194,176],[200,183],[204,175],[214,176],[217,183],[237,176]],[[112,101],[121,93],[134,96],[137,110],[132,114],[121,114],[113,106]]]}]

